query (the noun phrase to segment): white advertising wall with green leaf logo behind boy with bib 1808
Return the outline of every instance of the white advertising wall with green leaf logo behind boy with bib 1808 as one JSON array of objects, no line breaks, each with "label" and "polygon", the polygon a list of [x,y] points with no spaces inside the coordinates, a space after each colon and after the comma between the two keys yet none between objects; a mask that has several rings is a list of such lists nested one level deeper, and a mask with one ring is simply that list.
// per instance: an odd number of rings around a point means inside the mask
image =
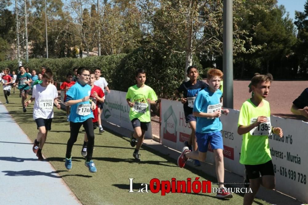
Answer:
[{"label": "white advertising wall with green leaf logo behind boy with bib 1808", "polygon": [[[133,131],[132,123],[129,119],[130,107],[126,102],[126,92],[110,90],[110,93],[107,93],[105,90],[105,95],[101,119]],[[151,123],[145,133],[145,138],[153,139]]]}]

